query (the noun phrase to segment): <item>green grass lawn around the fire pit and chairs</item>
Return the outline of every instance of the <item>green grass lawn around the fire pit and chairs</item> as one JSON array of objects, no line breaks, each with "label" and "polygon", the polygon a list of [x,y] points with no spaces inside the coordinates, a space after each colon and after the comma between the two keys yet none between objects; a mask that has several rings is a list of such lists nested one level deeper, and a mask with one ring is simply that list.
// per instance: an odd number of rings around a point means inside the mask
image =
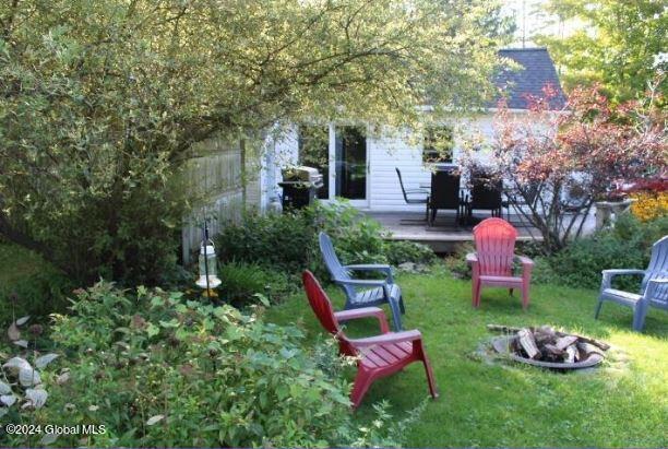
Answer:
[{"label": "green grass lawn around the fire pit and chairs", "polygon": [[[628,308],[606,304],[601,319],[594,320],[595,291],[534,285],[524,312],[517,296],[484,290],[481,307],[474,310],[470,283],[440,269],[399,275],[397,282],[406,302],[405,329],[422,332],[441,392],[411,426],[405,446],[668,446],[668,314],[653,310],[644,333],[634,333]],[[341,308],[339,292],[329,292]],[[273,307],[267,320],[296,322],[310,341],[323,334],[303,295]],[[615,361],[587,374],[488,364],[476,355],[490,338],[487,323],[551,324],[586,333],[612,344]],[[369,320],[348,331],[370,335],[377,326]],[[427,395],[424,369],[413,364],[377,381],[356,413],[363,421],[371,404],[387,399],[402,417]]]}]

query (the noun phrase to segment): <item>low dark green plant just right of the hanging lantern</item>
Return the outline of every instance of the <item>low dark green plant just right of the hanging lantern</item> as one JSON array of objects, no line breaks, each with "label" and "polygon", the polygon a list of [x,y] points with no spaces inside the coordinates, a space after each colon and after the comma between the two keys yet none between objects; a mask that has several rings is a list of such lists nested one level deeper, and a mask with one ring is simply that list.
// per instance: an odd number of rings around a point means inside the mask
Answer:
[{"label": "low dark green plant just right of the hanging lantern", "polygon": [[[272,303],[277,303],[294,292],[288,276],[281,271],[270,270],[257,263],[228,262],[220,268],[219,293],[226,302],[242,306],[261,294]],[[255,300],[257,303],[258,300]]]}]

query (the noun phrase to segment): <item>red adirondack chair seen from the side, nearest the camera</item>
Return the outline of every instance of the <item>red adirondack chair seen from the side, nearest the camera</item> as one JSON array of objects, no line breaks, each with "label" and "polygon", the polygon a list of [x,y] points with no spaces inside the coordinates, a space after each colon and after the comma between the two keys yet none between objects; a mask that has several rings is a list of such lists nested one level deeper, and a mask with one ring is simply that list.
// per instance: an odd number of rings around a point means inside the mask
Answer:
[{"label": "red adirondack chair seen from the side, nearest the camera", "polygon": [[[429,392],[436,399],[439,393],[429,359],[418,330],[390,332],[385,312],[378,307],[334,311],[332,303],[320,283],[310,271],[302,276],[309,303],[318,320],[327,332],[338,340],[339,353],[358,357],[357,376],[350,393],[353,406],[357,407],[367,390],[375,379],[390,376],[413,362],[422,362],[427,371]],[[375,317],[380,323],[381,335],[366,339],[349,339],[341,329],[339,322],[357,318]]]}]

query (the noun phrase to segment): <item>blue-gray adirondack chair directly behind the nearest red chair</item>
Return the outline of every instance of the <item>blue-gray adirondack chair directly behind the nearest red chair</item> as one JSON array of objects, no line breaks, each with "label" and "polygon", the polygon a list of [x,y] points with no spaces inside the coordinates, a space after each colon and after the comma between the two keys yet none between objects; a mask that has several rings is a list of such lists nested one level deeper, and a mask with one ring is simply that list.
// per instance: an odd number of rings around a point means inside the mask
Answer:
[{"label": "blue-gray adirondack chair directly behind the nearest red chair", "polygon": [[[332,281],[338,285],[346,295],[344,309],[389,304],[392,309],[394,329],[402,330],[402,314],[405,314],[402,290],[394,283],[392,267],[383,264],[343,265],[336,257],[332,239],[325,233],[320,233],[320,251],[332,275]],[[351,271],[379,271],[385,274],[384,280],[356,280],[350,276]]]}]

